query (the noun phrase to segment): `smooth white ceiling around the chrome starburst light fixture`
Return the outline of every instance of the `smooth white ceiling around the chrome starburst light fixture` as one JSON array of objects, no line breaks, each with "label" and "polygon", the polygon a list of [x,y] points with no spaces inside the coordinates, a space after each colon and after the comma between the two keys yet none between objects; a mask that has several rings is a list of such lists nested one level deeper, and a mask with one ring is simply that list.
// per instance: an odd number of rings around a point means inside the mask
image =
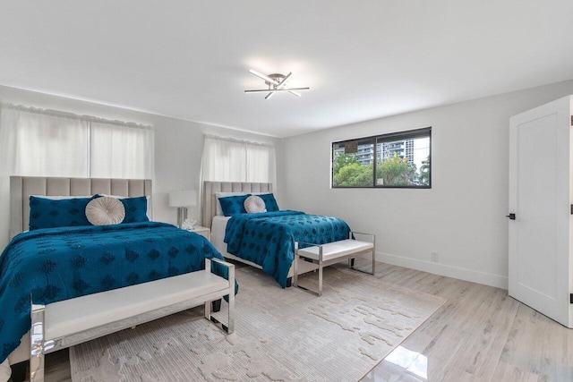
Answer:
[{"label": "smooth white ceiling around the chrome starburst light fixture", "polygon": [[[287,137],[573,79],[571,0],[0,0],[0,84]],[[294,72],[265,100],[248,73]]]}]

